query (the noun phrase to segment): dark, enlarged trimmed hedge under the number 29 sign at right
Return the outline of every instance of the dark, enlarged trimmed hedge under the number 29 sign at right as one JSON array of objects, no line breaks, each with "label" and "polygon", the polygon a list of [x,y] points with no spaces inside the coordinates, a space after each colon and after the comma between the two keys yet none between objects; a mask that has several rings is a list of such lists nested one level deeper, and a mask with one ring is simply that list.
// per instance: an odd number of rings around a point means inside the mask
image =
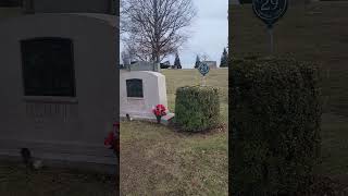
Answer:
[{"label": "dark, enlarged trimmed hedge under the number 29 sign at right", "polygon": [[319,70],[291,59],[233,61],[233,195],[294,195],[320,158]]}]

